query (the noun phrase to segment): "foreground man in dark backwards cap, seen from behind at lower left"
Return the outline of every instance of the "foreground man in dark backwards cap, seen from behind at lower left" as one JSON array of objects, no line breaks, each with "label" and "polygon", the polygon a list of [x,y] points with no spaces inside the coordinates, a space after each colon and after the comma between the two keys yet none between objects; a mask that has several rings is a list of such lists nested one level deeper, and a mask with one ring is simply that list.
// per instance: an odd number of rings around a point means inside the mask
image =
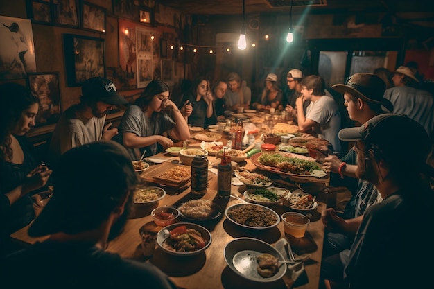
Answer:
[{"label": "foreground man in dark backwards cap, seen from behind at lower left", "polygon": [[[28,229],[50,235],[3,259],[7,288],[176,288],[151,263],[105,252],[128,218],[137,174],[114,141],[87,143],[62,155],[53,198]],[[81,200],[80,200],[81,199]],[[13,286],[12,286],[13,284]]]}]

